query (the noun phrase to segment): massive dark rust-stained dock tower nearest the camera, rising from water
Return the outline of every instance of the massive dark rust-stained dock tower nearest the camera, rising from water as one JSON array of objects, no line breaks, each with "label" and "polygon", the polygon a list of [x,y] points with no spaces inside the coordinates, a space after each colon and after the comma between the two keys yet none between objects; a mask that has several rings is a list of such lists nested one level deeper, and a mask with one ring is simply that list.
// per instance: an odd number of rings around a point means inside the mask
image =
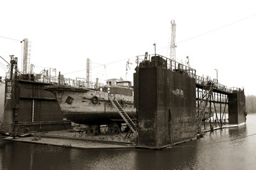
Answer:
[{"label": "massive dark rust-stained dock tower nearest the camera, rising from water", "polygon": [[161,148],[196,138],[196,80],[164,67],[134,74],[138,146]]}]

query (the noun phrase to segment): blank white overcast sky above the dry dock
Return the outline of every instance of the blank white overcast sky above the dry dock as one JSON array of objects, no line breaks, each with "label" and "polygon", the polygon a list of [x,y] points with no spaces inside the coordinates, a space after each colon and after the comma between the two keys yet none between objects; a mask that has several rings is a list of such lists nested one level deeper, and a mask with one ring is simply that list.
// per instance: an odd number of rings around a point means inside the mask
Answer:
[{"label": "blank white overcast sky above the dry dock", "polygon": [[125,79],[129,59],[132,80],[137,55],[154,53],[154,43],[156,53],[167,55],[175,20],[178,60],[189,56],[199,76],[216,78],[217,69],[220,84],[256,95],[255,6],[247,0],[0,1],[0,56],[15,55],[21,69],[18,40],[28,38],[36,73],[46,67],[85,77],[90,58],[92,80]]}]

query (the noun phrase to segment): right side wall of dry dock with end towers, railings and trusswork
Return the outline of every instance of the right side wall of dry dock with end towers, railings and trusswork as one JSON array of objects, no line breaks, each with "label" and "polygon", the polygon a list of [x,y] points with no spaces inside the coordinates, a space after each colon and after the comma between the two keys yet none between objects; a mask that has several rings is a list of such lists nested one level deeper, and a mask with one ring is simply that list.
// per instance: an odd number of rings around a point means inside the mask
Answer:
[{"label": "right side wall of dry dock with end towers, railings and trusswork", "polygon": [[[215,103],[229,106],[230,124],[245,123],[243,90],[228,89],[218,80],[198,77],[195,69],[161,55],[146,52],[137,61],[134,106],[138,109],[139,147],[157,149],[196,139],[202,134],[202,120],[209,106],[208,117],[213,118],[211,106]],[[222,128],[225,109],[222,113],[220,107],[218,112],[221,118],[215,120]],[[213,130],[212,120],[208,122]]]}]

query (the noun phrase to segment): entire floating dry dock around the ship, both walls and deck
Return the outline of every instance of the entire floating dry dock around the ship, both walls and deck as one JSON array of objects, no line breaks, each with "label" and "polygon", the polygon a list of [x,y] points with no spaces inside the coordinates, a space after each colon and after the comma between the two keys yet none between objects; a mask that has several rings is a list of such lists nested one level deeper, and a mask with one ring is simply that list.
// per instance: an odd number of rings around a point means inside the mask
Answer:
[{"label": "entire floating dry dock around the ship, both walls and deck", "polygon": [[[30,74],[29,80],[18,79],[16,62],[13,60],[10,78],[5,81],[1,130],[25,133],[70,129],[70,121],[60,113],[53,94],[44,90],[44,86],[54,83],[31,80]],[[120,118],[130,128],[129,135],[132,134],[133,138],[129,141],[124,140],[122,134],[114,137],[113,134],[82,136],[80,133],[80,136],[69,131],[44,133],[40,139],[33,136],[7,140],[87,149],[162,149],[195,140],[206,130],[226,128],[227,121],[233,126],[246,122],[243,89],[229,89],[219,84],[218,79],[199,77],[196,69],[156,54],[137,56],[135,70],[134,107],[137,119],[131,120],[122,106],[109,98],[109,104],[117,109]],[[57,80],[57,84],[61,84],[60,76]]]}]

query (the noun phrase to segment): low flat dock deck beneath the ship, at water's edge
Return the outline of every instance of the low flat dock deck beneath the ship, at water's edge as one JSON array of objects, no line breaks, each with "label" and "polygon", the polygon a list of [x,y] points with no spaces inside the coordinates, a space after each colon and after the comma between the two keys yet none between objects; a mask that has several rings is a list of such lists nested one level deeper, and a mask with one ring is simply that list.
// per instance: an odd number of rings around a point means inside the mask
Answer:
[{"label": "low flat dock deck beneath the ship, at water's edge", "polygon": [[83,132],[62,130],[27,135],[28,137],[6,137],[4,140],[80,149],[132,149],[136,146],[134,137],[125,138],[125,133],[118,135],[86,135]]}]

